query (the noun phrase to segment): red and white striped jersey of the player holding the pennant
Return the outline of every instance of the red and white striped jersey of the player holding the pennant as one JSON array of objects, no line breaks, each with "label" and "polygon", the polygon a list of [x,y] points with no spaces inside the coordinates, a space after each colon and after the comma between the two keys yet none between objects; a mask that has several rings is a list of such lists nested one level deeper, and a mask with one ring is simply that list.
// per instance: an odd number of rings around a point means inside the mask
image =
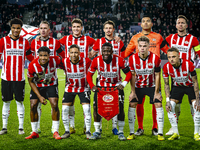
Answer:
[{"label": "red and white striped jersey of the player holding the pennant", "polygon": [[113,54],[112,61],[107,64],[100,55],[93,59],[89,72],[95,73],[96,70],[98,71],[97,86],[114,87],[122,83],[120,69],[124,69],[126,66],[126,61],[120,56]]}]

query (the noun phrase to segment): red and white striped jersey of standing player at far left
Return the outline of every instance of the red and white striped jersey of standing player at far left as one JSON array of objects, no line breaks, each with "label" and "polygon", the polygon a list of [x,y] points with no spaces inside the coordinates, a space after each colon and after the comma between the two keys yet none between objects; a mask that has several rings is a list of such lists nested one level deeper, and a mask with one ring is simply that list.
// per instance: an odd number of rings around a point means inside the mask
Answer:
[{"label": "red and white striped jersey of standing player at far left", "polygon": [[23,37],[13,40],[10,36],[0,40],[0,58],[3,54],[1,78],[6,81],[24,81],[25,56],[29,55],[29,42]]}]

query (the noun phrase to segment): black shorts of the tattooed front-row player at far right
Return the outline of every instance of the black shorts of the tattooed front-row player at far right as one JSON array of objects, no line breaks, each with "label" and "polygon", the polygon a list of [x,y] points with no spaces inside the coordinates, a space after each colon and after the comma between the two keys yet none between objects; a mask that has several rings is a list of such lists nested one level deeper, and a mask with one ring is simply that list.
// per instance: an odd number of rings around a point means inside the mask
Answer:
[{"label": "black shorts of the tattooed front-row player at far right", "polygon": [[178,100],[179,103],[182,103],[184,94],[188,95],[190,104],[191,100],[196,99],[194,87],[184,87],[184,86],[183,87],[173,86],[170,98]]}]

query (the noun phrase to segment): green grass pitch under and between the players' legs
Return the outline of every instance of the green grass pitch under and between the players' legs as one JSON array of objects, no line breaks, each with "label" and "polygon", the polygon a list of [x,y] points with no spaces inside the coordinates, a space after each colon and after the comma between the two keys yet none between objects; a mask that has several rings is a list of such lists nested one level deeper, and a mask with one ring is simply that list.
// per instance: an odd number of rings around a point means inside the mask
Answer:
[{"label": "green grass pitch under and between the players' legs", "polygon": [[[26,70],[27,71],[27,70]],[[26,74],[26,73],[25,73]],[[200,69],[197,69],[197,74],[200,74]],[[58,70],[59,78],[59,109],[60,109],[60,135],[64,134],[65,130],[61,119],[62,110],[62,97],[65,88],[65,75],[62,70]],[[198,78],[200,80],[200,78]],[[162,78],[162,96],[163,96],[163,108],[165,113],[164,134],[169,130],[170,123],[165,110],[165,94],[164,94],[164,81]],[[125,127],[124,135],[129,135],[128,126],[128,96],[130,94],[130,85],[128,84],[125,89]],[[25,119],[24,119],[24,135],[18,134],[18,118],[17,108],[15,101],[10,105],[10,116],[8,119],[8,133],[0,136],[0,149],[198,149],[200,142],[195,142],[193,139],[194,125],[192,116],[190,114],[190,106],[187,96],[184,96],[183,103],[181,105],[181,115],[179,119],[179,133],[180,140],[168,141],[168,136],[165,136],[165,141],[158,141],[157,136],[151,135],[152,129],[152,105],[149,104],[149,98],[146,98],[144,109],[144,135],[136,136],[134,140],[119,141],[118,136],[112,134],[112,121],[109,122],[103,119],[103,132],[102,138],[96,141],[90,141],[86,139],[83,134],[83,109],[80,105],[78,96],[75,100],[75,125],[76,133],[72,134],[68,139],[55,140],[51,133],[51,107],[50,103],[46,106],[42,106],[41,116],[41,131],[38,139],[25,140],[25,137],[30,135],[31,121],[30,121],[30,86],[26,79],[25,85]],[[1,96],[1,93],[0,93]],[[2,104],[0,102],[0,127],[2,127]],[[91,106],[93,104],[93,92],[91,95]],[[91,109],[93,113],[93,108]],[[91,124],[91,132],[94,132],[93,116]],[[135,131],[137,130],[137,120],[135,125]]]}]

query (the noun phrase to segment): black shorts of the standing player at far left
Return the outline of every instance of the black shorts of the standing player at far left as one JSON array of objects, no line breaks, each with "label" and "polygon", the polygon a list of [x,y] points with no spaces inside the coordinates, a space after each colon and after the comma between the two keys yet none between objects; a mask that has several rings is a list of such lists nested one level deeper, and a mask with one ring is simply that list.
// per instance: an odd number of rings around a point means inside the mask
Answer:
[{"label": "black shorts of the standing player at far left", "polygon": [[3,101],[13,100],[13,94],[15,100],[24,101],[24,86],[25,81],[5,81],[1,80],[1,93]]}]

